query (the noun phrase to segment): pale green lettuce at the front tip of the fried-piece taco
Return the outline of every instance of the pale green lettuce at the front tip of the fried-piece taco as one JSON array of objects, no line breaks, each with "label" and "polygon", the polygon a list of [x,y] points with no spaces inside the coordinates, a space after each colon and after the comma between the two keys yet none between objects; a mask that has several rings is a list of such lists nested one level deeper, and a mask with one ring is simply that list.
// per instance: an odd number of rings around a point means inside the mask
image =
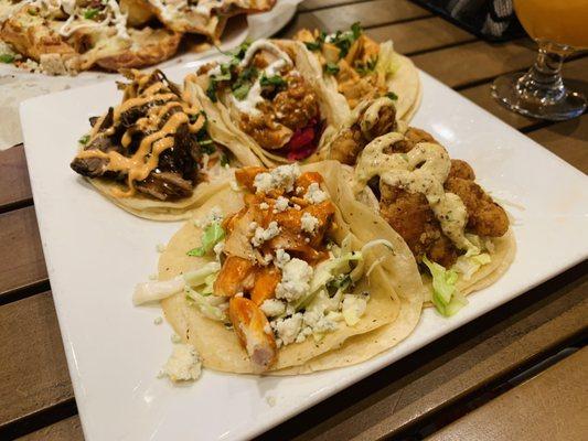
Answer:
[{"label": "pale green lettuce at the front tip of the fried-piece taco", "polygon": [[423,257],[432,277],[432,304],[443,316],[451,316],[467,304],[466,299],[456,289],[458,273],[447,270],[439,263]]}]

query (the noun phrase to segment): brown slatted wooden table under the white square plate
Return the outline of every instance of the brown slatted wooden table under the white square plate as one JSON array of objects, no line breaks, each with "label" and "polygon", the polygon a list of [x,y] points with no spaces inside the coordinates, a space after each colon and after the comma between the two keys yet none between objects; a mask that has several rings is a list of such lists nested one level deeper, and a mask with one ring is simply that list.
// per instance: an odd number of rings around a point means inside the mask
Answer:
[{"label": "brown slatted wooden table under the white square plate", "polygon": [[[376,39],[393,39],[418,67],[588,171],[588,115],[549,123],[511,114],[490,97],[493,78],[533,63],[534,45],[527,39],[489,44],[407,0],[308,0],[282,33],[291,35],[302,26],[334,31],[355,21]],[[586,80],[586,55],[566,63],[568,78]],[[514,375],[570,344],[584,344],[587,293],[584,262],[260,438],[421,439],[443,430],[445,438],[438,439],[449,439],[466,413],[507,399],[506,394],[494,397],[512,387]],[[566,363],[567,368],[586,369],[586,353],[584,363]],[[585,400],[586,388],[569,390]],[[556,397],[557,390],[550,392]],[[0,152],[0,439],[83,439],[22,146]],[[543,411],[534,423],[550,421]],[[493,413],[489,408],[482,415]],[[475,439],[475,424],[461,433],[468,437],[455,439]]]}]

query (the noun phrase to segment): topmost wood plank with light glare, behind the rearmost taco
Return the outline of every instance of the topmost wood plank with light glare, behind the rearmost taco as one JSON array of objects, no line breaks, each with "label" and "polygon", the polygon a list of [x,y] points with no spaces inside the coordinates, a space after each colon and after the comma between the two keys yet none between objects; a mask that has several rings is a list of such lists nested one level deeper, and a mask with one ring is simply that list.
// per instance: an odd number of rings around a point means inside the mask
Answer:
[{"label": "topmost wood plank with light glare, behind the rearmost taco", "polygon": [[356,21],[361,21],[362,25],[367,28],[430,15],[430,12],[408,0],[374,0],[314,12],[301,12],[280,34],[291,36],[302,28],[334,32],[349,29]]}]

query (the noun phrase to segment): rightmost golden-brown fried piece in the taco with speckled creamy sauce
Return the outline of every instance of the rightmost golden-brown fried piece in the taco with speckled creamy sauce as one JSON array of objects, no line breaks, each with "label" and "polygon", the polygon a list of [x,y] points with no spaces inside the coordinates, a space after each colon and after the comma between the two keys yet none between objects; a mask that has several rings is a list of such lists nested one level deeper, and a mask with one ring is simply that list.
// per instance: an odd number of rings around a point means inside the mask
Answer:
[{"label": "rightmost golden-brown fried piece in the taco with speckled creamy sauce", "polygon": [[482,187],[473,181],[450,178],[445,190],[457,194],[468,211],[468,232],[480,236],[500,237],[509,229],[509,217],[504,209],[492,201]]}]

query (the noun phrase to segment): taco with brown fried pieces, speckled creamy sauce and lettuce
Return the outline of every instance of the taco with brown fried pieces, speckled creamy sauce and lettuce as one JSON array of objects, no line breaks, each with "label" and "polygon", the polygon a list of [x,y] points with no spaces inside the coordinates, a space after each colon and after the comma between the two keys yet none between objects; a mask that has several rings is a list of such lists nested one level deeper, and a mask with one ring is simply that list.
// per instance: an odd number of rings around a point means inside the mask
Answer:
[{"label": "taco with brown fried pieces, speckled creamy sauce and lettuce", "polygon": [[510,220],[467,162],[450,159],[424,130],[397,129],[363,148],[354,190],[410,248],[429,287],[427,300],[452,315],[466,294],[493,283],[511,265]]}]

